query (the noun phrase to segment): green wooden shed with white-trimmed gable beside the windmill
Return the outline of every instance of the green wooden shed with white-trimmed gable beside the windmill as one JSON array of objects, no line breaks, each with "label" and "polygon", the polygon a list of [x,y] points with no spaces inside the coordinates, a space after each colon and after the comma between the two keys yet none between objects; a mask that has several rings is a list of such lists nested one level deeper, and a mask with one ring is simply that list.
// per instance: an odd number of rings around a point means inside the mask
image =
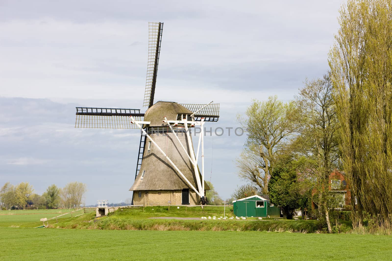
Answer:
[{"label": "green wooden shed with white-trimmed gable beside the windmill", "polygon": [[243,217],[279,218],[280,207],[270,203],[268,195],[253,195],[233,201],[234,215]]}]

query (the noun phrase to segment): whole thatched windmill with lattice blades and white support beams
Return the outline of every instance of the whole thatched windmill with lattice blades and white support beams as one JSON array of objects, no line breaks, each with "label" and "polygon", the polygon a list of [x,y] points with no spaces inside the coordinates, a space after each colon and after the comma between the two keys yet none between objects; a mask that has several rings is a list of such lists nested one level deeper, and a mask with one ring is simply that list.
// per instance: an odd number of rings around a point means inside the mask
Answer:
[{"label": "whole thatched windmill with lattice blades and white support beams", "polygon": [[[140,129],[134,184],[134,205],[197,205],[208,203],[204,181],[205,122],[219,119],[219,104],[154,104],[163,23],[149,23],[147,80],[140,109],[76,107],[75,128]],[[200,126],[197,152],[191,130]],[[196,129],[195,129],[196,134]],[[198,167],[201,148],[201,172]]]}]

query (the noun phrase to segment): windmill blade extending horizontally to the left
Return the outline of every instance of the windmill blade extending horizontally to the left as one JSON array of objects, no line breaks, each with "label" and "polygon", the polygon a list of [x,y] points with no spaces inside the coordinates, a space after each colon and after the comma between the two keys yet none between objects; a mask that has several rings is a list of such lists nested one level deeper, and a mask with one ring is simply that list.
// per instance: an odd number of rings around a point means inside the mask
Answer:
[{"label": "windmill blade extending horizontally to the left", "polygon": [[76,107],[75,128],[137,129],[129,116],[140,121],[144,113],[139,109]]}]

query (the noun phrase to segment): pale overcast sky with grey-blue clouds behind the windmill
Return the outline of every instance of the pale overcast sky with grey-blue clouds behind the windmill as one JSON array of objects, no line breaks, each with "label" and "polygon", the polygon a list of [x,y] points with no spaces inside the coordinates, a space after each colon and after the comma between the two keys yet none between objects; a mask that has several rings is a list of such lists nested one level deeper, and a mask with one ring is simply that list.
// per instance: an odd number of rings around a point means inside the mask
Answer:
[{"label": "pale overcast sky with grey-blue clouds behind the windmill", "polygon": [[[322,77],[338,31],[331,1],[0,0],[0,185],[87,184],[86,204],[131,197],[140,133],[74,128],[75,106],[140,108],[148,22],[164,22],[155,101],[221,104],[236,128],[251,99],[292,99]],[[223,199],[245,136],[205,139]],[[208,177],[207,177],[208,176]]]}]

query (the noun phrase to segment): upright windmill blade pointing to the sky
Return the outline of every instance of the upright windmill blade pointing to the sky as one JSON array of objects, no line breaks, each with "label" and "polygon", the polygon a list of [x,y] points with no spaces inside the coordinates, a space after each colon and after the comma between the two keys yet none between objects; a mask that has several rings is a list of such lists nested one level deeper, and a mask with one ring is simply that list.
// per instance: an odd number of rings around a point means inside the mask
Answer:
[{"label": "upright windmill blade pointing to the sky", "polygon": [[163,23],[149,23],[147,79],[143,107],[150,108],[152,104],[154,104],[156,74],[158,72],[158,61],[161,51],[162,30]]}]

